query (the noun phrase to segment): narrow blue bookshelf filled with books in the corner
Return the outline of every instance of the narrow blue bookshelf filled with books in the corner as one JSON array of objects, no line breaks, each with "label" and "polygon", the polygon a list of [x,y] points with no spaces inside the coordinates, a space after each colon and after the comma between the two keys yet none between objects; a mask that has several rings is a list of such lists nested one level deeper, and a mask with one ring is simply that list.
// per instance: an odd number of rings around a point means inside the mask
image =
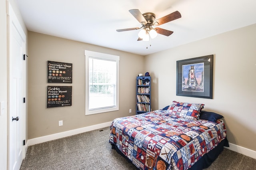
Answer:
[{"label": "narrow blue bookshelf filled with books in the corner", "polygon": [[150,111],[150,90],[151,77],[138,76],[136,78],[136,115]]}]

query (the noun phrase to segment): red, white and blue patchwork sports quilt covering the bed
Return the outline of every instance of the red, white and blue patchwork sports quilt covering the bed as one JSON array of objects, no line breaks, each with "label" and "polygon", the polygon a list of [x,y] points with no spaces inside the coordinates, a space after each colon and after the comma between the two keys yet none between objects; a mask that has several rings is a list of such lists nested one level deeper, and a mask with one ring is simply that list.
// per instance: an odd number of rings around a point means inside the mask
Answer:
[{"label": "red, white and blue patchwork sports quilt covering the bed", "polygon": [[156,110],[115,119],[111,144],[142,170],[183,170],[226,138],[221,119],[192,121]]}]

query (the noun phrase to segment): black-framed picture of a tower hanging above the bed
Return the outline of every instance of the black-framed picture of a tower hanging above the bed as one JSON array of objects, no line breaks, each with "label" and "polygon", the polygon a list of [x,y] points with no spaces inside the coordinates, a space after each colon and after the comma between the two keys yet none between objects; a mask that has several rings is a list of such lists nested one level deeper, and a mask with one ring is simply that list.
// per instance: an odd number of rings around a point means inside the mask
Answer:
[{"label": "black-framed picture of a tower hanging above the bed", "polygon": [[212,99],[213,55],[176,61],[176,95]]}]

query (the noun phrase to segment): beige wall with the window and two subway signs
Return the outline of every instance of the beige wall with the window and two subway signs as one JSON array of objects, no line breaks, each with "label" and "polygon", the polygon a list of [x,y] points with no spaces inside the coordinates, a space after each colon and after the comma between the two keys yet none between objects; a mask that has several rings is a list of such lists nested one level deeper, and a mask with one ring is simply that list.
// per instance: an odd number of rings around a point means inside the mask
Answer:
[{"label": "beige wall with the window and two subway signs", "polygon": [[[29,139],[135,115],[136,76],[144,70],[144,56],[35,32],[28,32],[28,46]],[[119,111],[85,116],[85,49],[120,56]],[[47,61],[72,63],[72,84],[47,83]],[[72,106],[46,108],[48,85],[72,85]],[[59,127],[60,120],[63,126]]]}]

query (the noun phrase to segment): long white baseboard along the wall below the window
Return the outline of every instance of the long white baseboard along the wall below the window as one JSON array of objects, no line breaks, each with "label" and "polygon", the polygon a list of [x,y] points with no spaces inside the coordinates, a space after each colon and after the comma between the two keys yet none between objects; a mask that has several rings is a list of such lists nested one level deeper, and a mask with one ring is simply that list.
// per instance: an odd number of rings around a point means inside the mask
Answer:
[{"label": "long white baseboard along the wall below the window", "polygon": [[91,130],[96,130],[99,128],[104,128],[104,127],[109,127],[111,122],[106,122],[106,123],[101,123],[98,125],[92,125],[89,127],[83,127],[83,128],[78,128],[78,129],[74,129],[74,130],[68,130],[66,132],[60,132],[60,133],[55,133],[55,134],[50,134],[47,136],[42,136],[42,137],[38,137],[38,138],[33,138],[33,139],[28,139],[28,142],[26,144],[26,147],[34,145],[34,144],[39,144],[42,142],[47,142],[50,140],[55,140],[55,139],[59,139],[59,138],[64,138],[67,136],[72,136],[74,134],[79,134],[79,133],[83,133],[83,132],[88,132]]}]

